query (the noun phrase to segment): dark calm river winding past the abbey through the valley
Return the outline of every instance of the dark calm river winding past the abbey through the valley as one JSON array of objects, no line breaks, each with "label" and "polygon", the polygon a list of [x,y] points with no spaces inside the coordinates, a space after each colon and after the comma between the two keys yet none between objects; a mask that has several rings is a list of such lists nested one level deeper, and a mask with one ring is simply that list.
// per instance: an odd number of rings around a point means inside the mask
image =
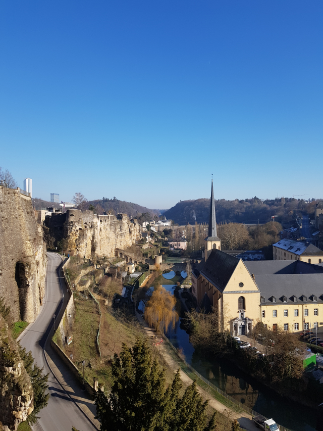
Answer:
[{"label": "dark calm river winding past the abbey through the valley", "polygon": [[[169,292],[175,286],[164,284]],[[186,361],[213,385],[266,417],[292,431],[315,431],[316,411],[280,397],[266,386],[259,384],[227,360],[217,360],[195,351],[188,333],[181,327],[181,320],[167,335],[174,347],[180,348]]]}]

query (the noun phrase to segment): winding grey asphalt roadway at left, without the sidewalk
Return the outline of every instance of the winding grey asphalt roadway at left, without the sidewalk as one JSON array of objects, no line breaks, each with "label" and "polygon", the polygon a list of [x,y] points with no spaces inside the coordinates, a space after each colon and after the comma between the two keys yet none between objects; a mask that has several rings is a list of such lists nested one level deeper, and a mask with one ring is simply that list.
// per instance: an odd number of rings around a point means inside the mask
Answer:
[{"label": "winding grey asphalt roadway at left, without the sidewalk", "polygon": [[43,431],[71,431],[72,426],[80,431],[96,431],[52,375],[45,360],[43,347],[53,324],[53,314],[56,314],[59,321],[62,305],[67,303],[65,283],[62,283],[61,288],[57,272],[62,259],[55,253],[47,253],[47,257],[46,292],[43,305],[37,319],[28,326],[20,341],[27,351],[31,350],[37,365],[44,367],[46,374],[49,373],[50,398],[47,407],[38,414],[40,417],[38,422]]}]

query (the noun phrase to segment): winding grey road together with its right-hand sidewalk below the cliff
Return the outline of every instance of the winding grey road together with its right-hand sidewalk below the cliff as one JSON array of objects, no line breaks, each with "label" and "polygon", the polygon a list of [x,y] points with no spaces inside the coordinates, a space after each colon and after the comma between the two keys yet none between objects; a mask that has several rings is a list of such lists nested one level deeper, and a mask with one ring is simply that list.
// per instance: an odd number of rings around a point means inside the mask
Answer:
[{"label": "winding grey road together with its right-hand sidewalk below the cliff", "polygon": [[26,347],[27,351],[31,350],[37,365],[43,367],[45,373],[49,373],[50,397],[47,407],[38,414],[40,418],[35,429],[70,431],[72,426],[75,426],[80,431],[95,431],[96,427],[91,420],[97,425],[97,428],[99,425],[94,420],[93,401],[87,392],[82,392],[79,382],[50,348],[53,314],[56,314],[56,321],[59,322],[67,304],[67,290],[64,278],[60,283],[57,271],[58,266],[62,264],[61,257],[56,253],[47,253],[47,257],[43,305],[40,307],[40,313],[35,322],[31,323],[19,337],[22,347]]}]

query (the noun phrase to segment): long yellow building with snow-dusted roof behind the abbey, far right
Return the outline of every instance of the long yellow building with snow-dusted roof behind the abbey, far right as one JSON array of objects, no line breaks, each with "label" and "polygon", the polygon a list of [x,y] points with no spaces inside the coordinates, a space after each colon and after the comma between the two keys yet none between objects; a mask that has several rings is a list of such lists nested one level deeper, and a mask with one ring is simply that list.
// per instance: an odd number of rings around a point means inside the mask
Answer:
[{"label": "long yellow building with snow-dusted roof behind the abbey, far right", "polygon": [[321,263],[323,250],[305,241],[283,238],[273,244],[273,260],[301,260],[308,263]]}]

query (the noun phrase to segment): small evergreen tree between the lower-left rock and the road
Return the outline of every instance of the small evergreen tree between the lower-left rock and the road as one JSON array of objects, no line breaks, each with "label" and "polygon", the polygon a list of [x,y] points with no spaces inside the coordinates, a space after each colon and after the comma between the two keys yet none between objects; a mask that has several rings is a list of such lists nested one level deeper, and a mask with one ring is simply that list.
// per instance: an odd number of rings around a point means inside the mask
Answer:
[{"label": "small evergreen tree between the lower-left rock and the road", "polygon": [[43,368],[39,368],[36,364],[34,365],[34,358],[31,352],[26,353],[25,347],[23,349],[20,347],[20,357],[24,361],[34,392],[34,410],[27,418],[27,421],[33,424],[36,423],[38,419],[37,413],[48,404],[49,394],[46,394],[48,388],[48,374],[43,374]]}]

